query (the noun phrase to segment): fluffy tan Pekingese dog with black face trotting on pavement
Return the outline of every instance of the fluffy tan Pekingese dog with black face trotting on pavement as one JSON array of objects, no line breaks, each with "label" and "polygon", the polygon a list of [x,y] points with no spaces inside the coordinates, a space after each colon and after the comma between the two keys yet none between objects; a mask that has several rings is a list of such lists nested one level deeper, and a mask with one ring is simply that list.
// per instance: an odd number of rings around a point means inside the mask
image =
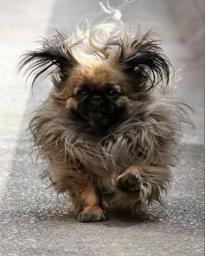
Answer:
[{"label": "fluffy tan Pekingese dog with black face trotting on pavement", "polygon": [[58,32],[19,65],[38,70],[32,85],[51,76],[52,90],[29,123],[31,142],[47,162],[42,178],[68,193],[79,222],[105,220],[105,202],[133,213],[162,204],[184,124],[192,125],[188,106],[172,96],[171,64],[153,34],[102,9],[102,23],[78,27],[75,37]]}]

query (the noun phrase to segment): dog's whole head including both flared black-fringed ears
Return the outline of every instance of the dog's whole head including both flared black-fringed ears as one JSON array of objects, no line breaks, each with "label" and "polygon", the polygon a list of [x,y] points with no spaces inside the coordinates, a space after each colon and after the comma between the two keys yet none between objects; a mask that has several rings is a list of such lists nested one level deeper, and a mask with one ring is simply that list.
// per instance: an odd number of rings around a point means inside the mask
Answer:
[{"label": "dog's whole head including both flared black-fringed ears", "polygon": [[[126,39],[126,40],[125,40]],[[65,35],[45,41],[41,49],[24,55],[20,69],[32,63],[31,72],[41,68],[37,77],[51,66],[55,100],[64,101],[69,118],[104,129],[126,120],[135,111],[133,101],[142,101],[147,92],[169,80],[169,61],[149,35],[112,42],[110,54],[88,53],[82,57]],[[103,58],[101,57],[103,55]],[[87,56],[87,58],[86,58]]]}]

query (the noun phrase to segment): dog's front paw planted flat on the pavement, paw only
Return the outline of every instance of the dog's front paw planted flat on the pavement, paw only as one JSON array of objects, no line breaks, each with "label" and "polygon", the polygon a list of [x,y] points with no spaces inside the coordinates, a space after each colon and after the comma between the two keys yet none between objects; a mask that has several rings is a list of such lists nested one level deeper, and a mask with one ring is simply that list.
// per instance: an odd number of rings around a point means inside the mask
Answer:
[{"label": "dog's front paw planted flat on the pavement, paw only", "polygon": [[83,212],[78,215],[79,222],[99,222],[105,221],[105,216],[100,207],[85,208]]}]

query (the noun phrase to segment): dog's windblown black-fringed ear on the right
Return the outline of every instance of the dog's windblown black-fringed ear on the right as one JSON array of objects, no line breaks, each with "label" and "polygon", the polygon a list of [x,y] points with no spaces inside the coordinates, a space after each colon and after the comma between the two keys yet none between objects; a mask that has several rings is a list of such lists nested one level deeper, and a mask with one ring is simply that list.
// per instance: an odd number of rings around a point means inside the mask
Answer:
[{"label": "dog's windblown black-fringed ear on the right", "polygon": [[[136,36],[125,40],[121,38],[120,54],[118,63],[129,75],[135,92],[148,91],[157,84],[169,83],[169,59],[162,54],[162,49],[158,46],[159,41],[154,41],[149,36],[150,32],[144,36]],[[149,81],[149,83],[148,83]]]}]

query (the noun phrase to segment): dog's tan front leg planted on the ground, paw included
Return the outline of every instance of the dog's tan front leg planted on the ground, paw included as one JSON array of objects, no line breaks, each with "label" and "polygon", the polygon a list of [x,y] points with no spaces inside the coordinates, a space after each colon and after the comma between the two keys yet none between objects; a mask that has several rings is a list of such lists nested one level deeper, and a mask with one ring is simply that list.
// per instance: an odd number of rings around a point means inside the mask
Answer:
[{"label": "dog's tan front leg planted on the ground, paw included", "polygon": [[83,211],[77,214],[79,222],[98,222],[105,220],[94,187],[89,182],[82,184],[78,192],[78,197],[83,205]]}]

